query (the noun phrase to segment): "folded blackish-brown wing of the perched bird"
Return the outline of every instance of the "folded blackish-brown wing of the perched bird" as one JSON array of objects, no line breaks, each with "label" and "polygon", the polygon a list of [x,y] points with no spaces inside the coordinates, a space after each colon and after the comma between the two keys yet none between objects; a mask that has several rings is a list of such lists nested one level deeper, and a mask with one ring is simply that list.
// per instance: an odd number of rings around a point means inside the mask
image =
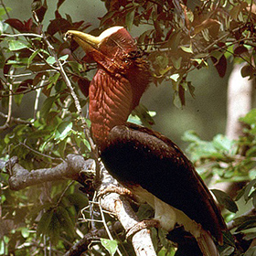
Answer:
[{"label": "folded blackish-brown wing of the perched bird", "polygon": [[101,159],[124,186],[140,185],[222,240],[225,224],[219,208],[194,166],[171,140],[138,125],[115,126],[101,149]]}]

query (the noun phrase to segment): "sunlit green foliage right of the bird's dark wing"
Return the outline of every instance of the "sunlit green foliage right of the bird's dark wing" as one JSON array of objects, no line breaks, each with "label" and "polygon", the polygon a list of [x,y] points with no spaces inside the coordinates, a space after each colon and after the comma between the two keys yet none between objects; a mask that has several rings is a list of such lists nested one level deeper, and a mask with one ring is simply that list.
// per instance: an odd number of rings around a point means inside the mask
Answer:
[{"label": "sunlit green foliage right of the bird's dark wing", "polygon": [[[240,121],[245,123],[247,128],[244,130],[246,135],[240,137],[238,141],[231,141],[224,135],[218,134],[211,142],[207,142],[192,131],[184,135],[184,140],[189,142],[187,151],[192,155],[197,170],[205,180],[218,176],[218,182],[246,184],[240,189],[235,200],[220,190],[212,189],[212,192],[219,204],[229,210],[225,215],[227,220],[234,221],[232,233],[235,236],[243,234],[243,240],[251,240],[256,235],[253,229],[256,227],[256,219],[253,215],[256,207],[256,109],[252,109],[240,118]],[[255,248],[246,251],[245,255],[253,255],[253,253]]]}]

